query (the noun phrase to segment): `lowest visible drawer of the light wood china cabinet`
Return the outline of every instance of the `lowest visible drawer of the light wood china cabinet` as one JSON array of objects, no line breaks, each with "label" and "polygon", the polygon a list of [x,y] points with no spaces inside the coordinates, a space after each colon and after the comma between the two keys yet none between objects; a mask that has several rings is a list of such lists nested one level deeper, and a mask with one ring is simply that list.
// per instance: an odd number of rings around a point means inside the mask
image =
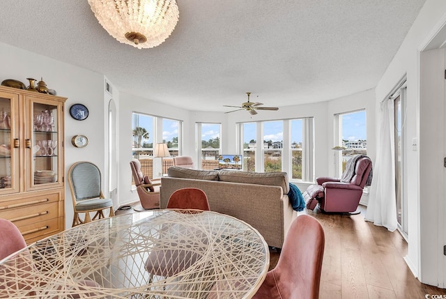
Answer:
[{"label": "lowest visible drawer of the light wood china cabinet", "polygon": [[63,217],[52,218],[43,222],[34,222],[23,227],[19,227],[26,243],[32,243],[54,233],[62,231]]}]

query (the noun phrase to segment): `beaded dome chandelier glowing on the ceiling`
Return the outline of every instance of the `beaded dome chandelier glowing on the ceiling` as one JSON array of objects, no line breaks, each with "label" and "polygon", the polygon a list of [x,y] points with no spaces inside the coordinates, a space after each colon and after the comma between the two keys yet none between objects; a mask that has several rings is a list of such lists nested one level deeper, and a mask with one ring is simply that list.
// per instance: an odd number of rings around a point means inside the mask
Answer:
[{"label": "beaded dome chandelier glowing on the ceiling", "polygon": [[175,0],[89,0],[89,4],[111,36],[138,49],[164,42],[180,15]]}]

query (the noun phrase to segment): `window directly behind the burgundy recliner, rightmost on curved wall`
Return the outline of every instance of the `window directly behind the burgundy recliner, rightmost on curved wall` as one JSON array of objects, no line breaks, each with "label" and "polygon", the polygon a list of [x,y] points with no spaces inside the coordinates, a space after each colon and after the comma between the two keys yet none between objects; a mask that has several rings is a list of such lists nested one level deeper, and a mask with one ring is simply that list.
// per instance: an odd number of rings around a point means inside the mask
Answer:
[{"label": "window directly behind the burgundy recliner, rightmost on curved wall", "polygon": [[[367,155],[367,122],[365,110],[336,115],[339,122],[338,144],[344,149],[339,151],[337,176],[346,168],[353,155]],[[336,145],[338,145],[336,144]]]}]

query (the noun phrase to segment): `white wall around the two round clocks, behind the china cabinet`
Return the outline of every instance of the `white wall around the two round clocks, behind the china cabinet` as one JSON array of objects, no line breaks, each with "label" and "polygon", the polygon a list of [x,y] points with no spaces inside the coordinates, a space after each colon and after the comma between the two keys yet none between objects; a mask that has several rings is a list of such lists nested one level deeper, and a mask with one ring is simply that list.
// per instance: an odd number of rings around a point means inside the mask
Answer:
[{"label": "white wall around the two round clocks, behind the china cabinet", "polygon": [[[3,79],[17,79],[28,86],[26,78],[43,77],[49,89],[54,89],[58,95],[68,98],[65,106],[65,179],[70,165],[79,160],[89,160],[104,169],[104,76],[3,43],[0,43],[0,53],[0,82]],[[71,118],[69,108],[75,103],[82,103],[89,109],[89,117],[86,120],[76,121]],[[77,134],[89,138],[86,148],[72,146],[71,138]],[[68,184],[65,193],[66,228],[69,228],[72,224],[73,208]]]}]

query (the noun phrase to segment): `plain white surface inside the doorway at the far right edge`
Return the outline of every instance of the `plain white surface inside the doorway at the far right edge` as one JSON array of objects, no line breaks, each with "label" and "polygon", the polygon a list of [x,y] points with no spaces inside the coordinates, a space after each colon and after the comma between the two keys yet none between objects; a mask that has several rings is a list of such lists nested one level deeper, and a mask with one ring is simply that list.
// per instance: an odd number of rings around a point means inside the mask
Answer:
[{"label": "plain white surface inside the doorway at the far right edge", "polygon": [[[428,284],[437,284],[436,269],[443,256],[443,157],[445,140],[445,51],[422,52],[420,89],[420,277]],[[435,128],[432,130],[432,128]],[[443,178],[443,179],[442,179]],[[441,213],[438,213],[441,211]],[[429,246],[423,246],[429,244]],[[439,270],[444,270],[440,267]]]}]

